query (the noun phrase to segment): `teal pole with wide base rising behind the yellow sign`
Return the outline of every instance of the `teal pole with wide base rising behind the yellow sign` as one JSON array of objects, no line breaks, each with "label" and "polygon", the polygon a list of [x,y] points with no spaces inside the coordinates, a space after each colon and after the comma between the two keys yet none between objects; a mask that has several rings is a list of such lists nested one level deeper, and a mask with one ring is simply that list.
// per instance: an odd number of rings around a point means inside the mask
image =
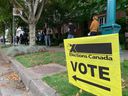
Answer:
[{"label": "teal pole with wide base rising behind the yellow sign", "polygon": [[101,26],[101,33],[112,34],[119,33],[121,26],[116,24],[116,0],[107,0],[107,20],[106,24]]}]

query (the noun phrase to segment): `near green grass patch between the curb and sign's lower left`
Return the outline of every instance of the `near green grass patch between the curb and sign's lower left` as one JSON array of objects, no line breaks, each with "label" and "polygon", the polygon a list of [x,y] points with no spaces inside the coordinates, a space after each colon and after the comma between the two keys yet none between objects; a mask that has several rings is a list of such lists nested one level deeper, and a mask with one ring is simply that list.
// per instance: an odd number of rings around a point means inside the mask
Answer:
[{"label": "near green grass patch between the curb and sign's lower left", "polygon": [[[51,87],[57,90],[61,96],[75,96],[79,92],[79,88],[68,83],[67,73],[57,74],[43,79]],[[63,83],[62,83],[63,82]],[[83,92],[80,96],[94,96],[90,93]]]}]

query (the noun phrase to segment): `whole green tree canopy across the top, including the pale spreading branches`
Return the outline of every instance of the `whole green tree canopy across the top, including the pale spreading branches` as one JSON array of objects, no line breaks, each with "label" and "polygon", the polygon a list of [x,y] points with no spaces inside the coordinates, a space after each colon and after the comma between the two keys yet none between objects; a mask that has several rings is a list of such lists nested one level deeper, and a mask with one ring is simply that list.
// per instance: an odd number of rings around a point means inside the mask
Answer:
[{"label": "whole green tree canopy across the top, including the pale spreading branches", "polygon": [[[124,10],[128,3],[127,0],[116,1],[118,10]],[[48,22],[57,27],[68,21],[81,23],[90,20],[93,14],[105,12],[106,2],[107,0],[0,0],[0,22],[11,23],[12,8],[15,7],[22,10],[20,17],[27,24],[36,25],[39,22],[38,26],[43,26],[42,22]]]}]

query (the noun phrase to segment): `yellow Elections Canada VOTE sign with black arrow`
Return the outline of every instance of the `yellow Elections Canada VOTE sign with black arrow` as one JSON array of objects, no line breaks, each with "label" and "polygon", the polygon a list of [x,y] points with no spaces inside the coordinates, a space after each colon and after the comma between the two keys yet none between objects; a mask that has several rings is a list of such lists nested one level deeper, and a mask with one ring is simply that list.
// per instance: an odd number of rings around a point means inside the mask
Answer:
[{"label": "yellow Elections Canada VOTE sign with black arrow", "polygon": [[122,96],[118,34],[65,39],[69,82],[96,96]]}]

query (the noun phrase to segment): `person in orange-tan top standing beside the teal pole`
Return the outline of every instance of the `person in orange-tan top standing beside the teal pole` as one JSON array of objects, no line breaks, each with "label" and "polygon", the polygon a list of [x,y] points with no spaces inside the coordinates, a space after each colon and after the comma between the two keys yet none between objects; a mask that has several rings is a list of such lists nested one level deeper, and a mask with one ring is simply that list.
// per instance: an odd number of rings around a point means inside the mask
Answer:
[{"label": "person in orange-tan top standing beside the teal pole", "polygon": [[99,35],[99,22],[98,22],[98,16],[93,16],[93,21],[90,25],[90,32],[89,32],[89,35],[90,36],[96,36],[96,35]]}]

